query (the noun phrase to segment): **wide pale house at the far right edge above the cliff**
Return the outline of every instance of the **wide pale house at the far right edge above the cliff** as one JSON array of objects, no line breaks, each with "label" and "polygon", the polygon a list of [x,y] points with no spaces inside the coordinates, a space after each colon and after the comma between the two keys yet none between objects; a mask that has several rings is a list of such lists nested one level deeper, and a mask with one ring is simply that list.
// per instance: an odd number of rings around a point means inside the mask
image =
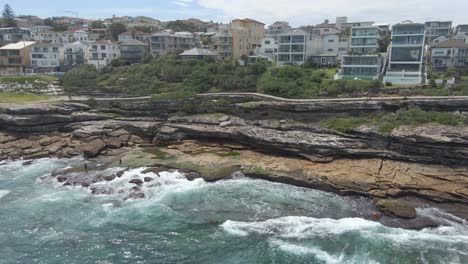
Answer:
[{"label": "wide pale house at the far right edge above the cliff", "polygon": [[448,39],[431,49],[432,66],[436,70],[447,67],[468,67],[468,43]]}]

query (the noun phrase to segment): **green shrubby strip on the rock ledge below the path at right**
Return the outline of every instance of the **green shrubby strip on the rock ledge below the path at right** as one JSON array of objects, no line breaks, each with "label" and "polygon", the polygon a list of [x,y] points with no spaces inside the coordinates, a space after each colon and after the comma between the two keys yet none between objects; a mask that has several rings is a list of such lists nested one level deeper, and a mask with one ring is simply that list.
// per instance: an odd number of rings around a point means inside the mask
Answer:
[{"label": "green shrubby strip on the rock ledge below the path at right", "polygon": [[375,126],[381,133],[391,133],[401,126],[421,125],[463,125],[465,118],[447,112],[424,111],[419,108],[405,110],[396,114],[382,114],[373,117],[347,117],[323,120],[321,125],[338,132],[349,133],[360,126]]}]

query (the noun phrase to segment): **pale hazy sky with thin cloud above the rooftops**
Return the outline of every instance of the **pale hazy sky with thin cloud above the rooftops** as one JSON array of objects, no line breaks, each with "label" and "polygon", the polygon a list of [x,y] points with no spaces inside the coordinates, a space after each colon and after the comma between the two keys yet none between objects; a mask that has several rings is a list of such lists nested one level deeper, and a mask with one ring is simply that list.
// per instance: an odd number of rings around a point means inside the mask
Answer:
[{"label": "pale hazy sky with thin cloud above the rooftops", "polygon": [[149,16],[160,20],[200,18],[228,22],[233,18],[254,18],[265,24],[277,20],[293,26],[316,24],[336,16],[349,21],[398,23],[411,19],[452,20],[468,24],[468,0],[0,0],[16,14],[40,17],[70,15],[84,18]]}]

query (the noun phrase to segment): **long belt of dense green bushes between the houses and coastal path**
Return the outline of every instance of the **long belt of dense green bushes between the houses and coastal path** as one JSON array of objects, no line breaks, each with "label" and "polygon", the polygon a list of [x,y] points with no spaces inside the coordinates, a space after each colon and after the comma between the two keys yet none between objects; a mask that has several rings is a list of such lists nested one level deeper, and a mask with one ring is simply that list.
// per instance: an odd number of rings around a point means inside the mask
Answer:
[{"label": "long belt of dense green bushes between the houses and coastal path", "polygon": [[69,92],[102,92],[173,97],[206,92],[261,92],[286,98],[349,96],[378,91],[377,81],[333,81],[334,70],[272,67],[263,61],[183,60],[170,53],[145,63],[97,71],[81,66],[62,79]]}]

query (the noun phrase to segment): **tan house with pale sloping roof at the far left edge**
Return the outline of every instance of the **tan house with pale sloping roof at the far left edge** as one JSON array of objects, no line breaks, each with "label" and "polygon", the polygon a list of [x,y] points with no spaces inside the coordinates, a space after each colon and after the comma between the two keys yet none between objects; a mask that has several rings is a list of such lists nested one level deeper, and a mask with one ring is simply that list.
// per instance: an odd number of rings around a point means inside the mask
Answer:
[{"label": "tan house with pale sloping roof at the far left edge", "polygon": [[31,65],[31,49],[35,42],[20,41],[0,48],[0,75],[23,74]]}]

